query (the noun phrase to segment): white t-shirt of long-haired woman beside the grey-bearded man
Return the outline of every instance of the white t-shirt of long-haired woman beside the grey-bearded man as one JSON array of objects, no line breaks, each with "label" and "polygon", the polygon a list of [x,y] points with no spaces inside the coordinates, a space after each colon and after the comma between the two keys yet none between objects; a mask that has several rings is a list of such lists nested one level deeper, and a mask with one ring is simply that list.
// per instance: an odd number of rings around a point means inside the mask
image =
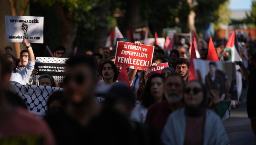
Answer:
[{"label": "white t-shirt of long-haired woman beside the grey-bearded man", "polygon": [[131,120],[137,121],[139,123],[145,123],[147,117],[148,109],[143,105],[138,104],[131,112]]}]

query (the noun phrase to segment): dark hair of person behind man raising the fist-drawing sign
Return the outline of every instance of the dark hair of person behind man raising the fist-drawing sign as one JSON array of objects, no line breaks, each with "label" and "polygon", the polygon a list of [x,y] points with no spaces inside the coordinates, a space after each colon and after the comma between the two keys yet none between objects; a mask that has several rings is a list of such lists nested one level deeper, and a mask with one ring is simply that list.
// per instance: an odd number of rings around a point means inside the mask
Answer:
[{"label": "dark hair of person behind man raising the fist-drawing sign", "polygon": [[15,58],[11,54],[4,54],[1,58],[1,73],[2,75],[11,74],[12,72],[12,63],[8,61],[11,58],[13,63],[15,63]]}]

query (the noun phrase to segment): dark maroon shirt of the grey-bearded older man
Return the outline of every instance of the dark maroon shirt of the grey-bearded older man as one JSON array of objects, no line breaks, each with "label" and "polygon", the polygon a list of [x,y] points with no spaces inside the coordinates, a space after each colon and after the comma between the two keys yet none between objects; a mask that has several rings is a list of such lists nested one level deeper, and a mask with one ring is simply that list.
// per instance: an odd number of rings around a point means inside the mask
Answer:
[{"label": "dark maroon shirt of the grey-bearded older man", "polygon": [[146,123],[155,127],[161,134],[168,116],[172,110],[167,104],[167,100],[148,107]]}]

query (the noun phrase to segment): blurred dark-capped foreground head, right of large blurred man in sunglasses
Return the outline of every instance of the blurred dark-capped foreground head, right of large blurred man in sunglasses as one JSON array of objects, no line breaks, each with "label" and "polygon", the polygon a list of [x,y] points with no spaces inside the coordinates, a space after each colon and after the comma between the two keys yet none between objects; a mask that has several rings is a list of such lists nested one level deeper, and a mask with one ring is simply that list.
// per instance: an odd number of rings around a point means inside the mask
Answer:
[{"label": "blurred dark-capped foreground head, right of large blurred man in sunglasses", "polygon": [[128,118],[135,103],[135,95],[124,82],[115,83],[106,95],[106,107],[113,107]]}]

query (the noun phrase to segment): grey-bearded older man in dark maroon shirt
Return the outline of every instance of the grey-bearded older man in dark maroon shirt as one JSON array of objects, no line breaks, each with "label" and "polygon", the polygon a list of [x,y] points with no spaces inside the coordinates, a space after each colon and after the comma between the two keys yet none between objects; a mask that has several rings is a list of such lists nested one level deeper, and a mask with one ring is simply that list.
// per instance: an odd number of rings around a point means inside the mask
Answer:
[{"label": "grey-bearded older man in dark maroon shirt", "polygon": [[183,87],[184,83],[181,76],[170,74],[164,79],[164,96],[166,100],[148,108],[146,123],[155,127],[160,134],[168,116],[183,107]]}]

